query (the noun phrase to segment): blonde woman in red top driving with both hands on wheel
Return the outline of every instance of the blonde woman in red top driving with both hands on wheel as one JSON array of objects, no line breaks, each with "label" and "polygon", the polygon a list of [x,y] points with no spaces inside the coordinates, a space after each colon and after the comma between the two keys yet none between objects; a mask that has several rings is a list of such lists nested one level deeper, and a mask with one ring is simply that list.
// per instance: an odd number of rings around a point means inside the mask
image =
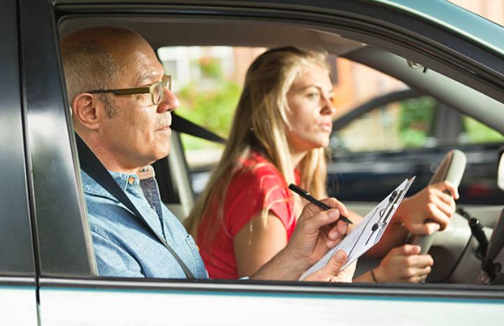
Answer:
[{"label": "blonde woman in red top driving with both hands on wheel", "polygon": [[[277,48],[252,63],[222,159],[186,222],[211,278],[252,275],[285,247],[305,204],[288,190],[289,183],[326,197],[324,147],[332,129],[332,101],[321,52]],[[394,246],[404,243],[408,231],[429,234],[445,227],[454,212],[445,190],[458,197],[452,185],[439,183],[405,200],[369,253],[388,254],[379,267],[354,281],[425,278],[431,256],[418,255],[418,246]],[[360,219],[354,213],[350,218]],[[424,224],[428,218],[438,224]]]}]

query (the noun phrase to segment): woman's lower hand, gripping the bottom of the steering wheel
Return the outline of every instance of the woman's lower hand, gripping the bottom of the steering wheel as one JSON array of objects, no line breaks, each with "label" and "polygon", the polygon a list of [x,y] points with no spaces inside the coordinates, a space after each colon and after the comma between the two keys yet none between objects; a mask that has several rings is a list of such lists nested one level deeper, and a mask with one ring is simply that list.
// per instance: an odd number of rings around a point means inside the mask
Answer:
[{"label": "woman's lower hand, gripping the bottom of the steering wheel", "polygon": [[419,253],[420,246],[416,245],[403,245],[390,250],[373,270],[376,278],[374,281],[418,283],[425,280],[434,260],[431,255],[418,255]]}]

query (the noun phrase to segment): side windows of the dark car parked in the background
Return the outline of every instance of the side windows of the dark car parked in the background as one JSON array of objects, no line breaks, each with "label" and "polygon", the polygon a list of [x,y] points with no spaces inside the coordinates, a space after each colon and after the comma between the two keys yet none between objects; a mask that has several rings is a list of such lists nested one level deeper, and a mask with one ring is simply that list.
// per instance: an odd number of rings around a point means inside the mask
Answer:
[{"label": "side windows of the dark car parked in the background", "polygon": [[[447,129],[447,126],[450,129]],[[504,136],[429,96],[390,101],[357,116],[331,139],[334,156],[503,143]]]}]

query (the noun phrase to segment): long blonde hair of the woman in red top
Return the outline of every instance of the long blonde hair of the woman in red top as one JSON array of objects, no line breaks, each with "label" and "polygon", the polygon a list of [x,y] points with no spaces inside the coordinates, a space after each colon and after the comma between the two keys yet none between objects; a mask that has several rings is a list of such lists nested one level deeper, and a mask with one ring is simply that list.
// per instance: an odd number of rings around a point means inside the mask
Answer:
[{"label": "long blonde hair of the woman in red top", "polygon": [[[296,76],[312,64],[328,69],[329,73],[325,53],[289,46],[264,52],[247,70],[224,153],[185,221],[185,226],[196,238],[201,218],[213,219],[205,221],[211,229],[202,234],[203,246],[210,244],[219,227],[222,227],[226,189],[233,173],[240,167],[240,158],[248,157],[253,150],[257,151],[282,173],[287,183],[295,183],[296,166],[291,162],[287,141],[287,92]],[[324,148],[310,150],[299,168],[301,187],[315,197],[326,197]],[[264,217],[268,210],[267,207],[263,208],[261,213]],[[295,211],[296,214],[300,213],[299,209]]]}]

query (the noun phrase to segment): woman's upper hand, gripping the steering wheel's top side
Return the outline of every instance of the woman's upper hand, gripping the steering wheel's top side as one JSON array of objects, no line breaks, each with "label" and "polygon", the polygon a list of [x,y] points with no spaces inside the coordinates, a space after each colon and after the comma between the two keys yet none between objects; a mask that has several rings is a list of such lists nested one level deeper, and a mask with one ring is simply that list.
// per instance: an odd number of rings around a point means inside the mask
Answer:
[{"label": "woman's upper hand, gripping the steering wheel's top side", "polygon": [[[459,192],[449,181],[428,185],[414,196],[403,200],[394,220],[401,222],[411,234],[442,231],[455,213],[454,199],[459,199]],[[431,221],[426,223],[426,220]]]}]

